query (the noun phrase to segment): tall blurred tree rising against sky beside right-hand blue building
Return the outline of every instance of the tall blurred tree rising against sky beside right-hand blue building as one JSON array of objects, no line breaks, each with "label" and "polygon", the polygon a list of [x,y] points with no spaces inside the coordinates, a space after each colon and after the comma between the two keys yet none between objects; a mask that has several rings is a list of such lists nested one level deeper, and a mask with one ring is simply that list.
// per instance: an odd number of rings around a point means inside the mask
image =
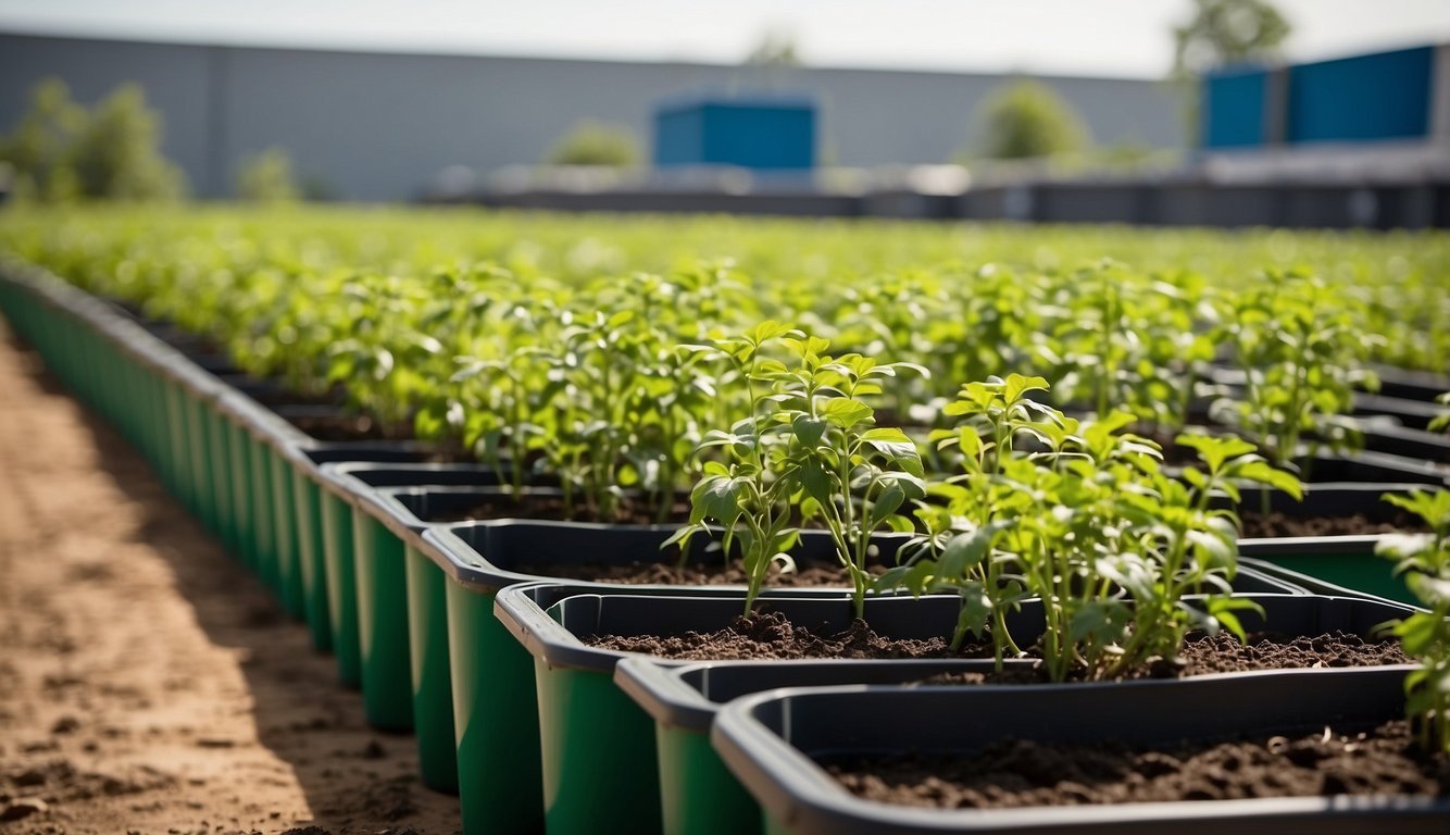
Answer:
[{"label": "tall blurred tree rising against sky beside right-hand blue building", "polygon": [[1193,17],[1173,28],[1173,70],[1169,80],[1183,99],[1183,126],[1198,136],[1199,78],[1231,64],[1267,62],[1292,30],[1264,0],[1193,0]]}]

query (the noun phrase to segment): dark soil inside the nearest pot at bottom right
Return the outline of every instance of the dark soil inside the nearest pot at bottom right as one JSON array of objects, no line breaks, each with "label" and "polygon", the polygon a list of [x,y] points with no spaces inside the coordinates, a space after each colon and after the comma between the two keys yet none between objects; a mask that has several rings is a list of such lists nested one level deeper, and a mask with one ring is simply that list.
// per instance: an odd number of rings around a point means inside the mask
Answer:
[{"label": "dark soil inside the nearest pot at bottom right", "polygon": [[829,757],[821,764],[858,797],[938,809],[1450,794],[1450,758],[1422,754],[1405,720],[1144,749],[1112,741],[1003,739],[976,752]]}]

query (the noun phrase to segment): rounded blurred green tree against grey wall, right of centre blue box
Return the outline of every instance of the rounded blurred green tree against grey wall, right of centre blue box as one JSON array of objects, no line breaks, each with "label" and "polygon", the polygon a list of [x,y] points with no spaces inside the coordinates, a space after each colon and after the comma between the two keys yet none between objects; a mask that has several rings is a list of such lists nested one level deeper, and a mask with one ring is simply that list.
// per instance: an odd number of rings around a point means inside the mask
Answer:
[{"label": "rounded blurred green tree against grey wall, right of centre blue box", "polygon": [[1040,81],[998,88],[979,109],[980,155],[1030,159],[1082,151],[1090,133],[1072,104]]}]

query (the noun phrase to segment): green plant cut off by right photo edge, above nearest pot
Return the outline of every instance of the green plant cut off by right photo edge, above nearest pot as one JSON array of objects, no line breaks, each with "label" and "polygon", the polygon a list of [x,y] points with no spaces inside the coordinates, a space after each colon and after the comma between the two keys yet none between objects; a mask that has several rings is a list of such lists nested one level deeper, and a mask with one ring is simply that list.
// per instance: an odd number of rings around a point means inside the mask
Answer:
[{"label": "green plant cut off by right photo edge, above nearest pot", "polygon": [[1375,552],[1395,560],[1395,574],[1424,607],[1393,625],[1405,654],[1421,664],[1405,677],[1405,713],[1422,748],[1450,755],[1450,490],[1417,487],[1383,499],[1430,526],[1430,533],[1383,536]]}]

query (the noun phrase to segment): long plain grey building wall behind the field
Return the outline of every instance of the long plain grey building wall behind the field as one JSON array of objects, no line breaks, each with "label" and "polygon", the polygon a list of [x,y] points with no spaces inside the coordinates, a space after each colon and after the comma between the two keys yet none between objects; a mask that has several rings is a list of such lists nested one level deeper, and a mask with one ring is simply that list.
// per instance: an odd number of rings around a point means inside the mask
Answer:
[{"label": "long plain grey building wall behind the field", "polygon": [[[338,197],[415,196],[454,164],[538,162],[579,119],[634,128],[652,104],[697,87],[758,87],[738,67],[409,55],[49,38],[0,33],[0,129],[48,75],[94,101],[138,81],[165,119],[165,152],[196,193],[226,196],[239,161],[286,148],[300,175]],[[840,165],[945,161],[1006,78],[953,72],[798,68],[768,78],[821,101],[821,142]],[[1045,77],[1099,142],[1180,146],[1172,94],[1154,81]]]}]

